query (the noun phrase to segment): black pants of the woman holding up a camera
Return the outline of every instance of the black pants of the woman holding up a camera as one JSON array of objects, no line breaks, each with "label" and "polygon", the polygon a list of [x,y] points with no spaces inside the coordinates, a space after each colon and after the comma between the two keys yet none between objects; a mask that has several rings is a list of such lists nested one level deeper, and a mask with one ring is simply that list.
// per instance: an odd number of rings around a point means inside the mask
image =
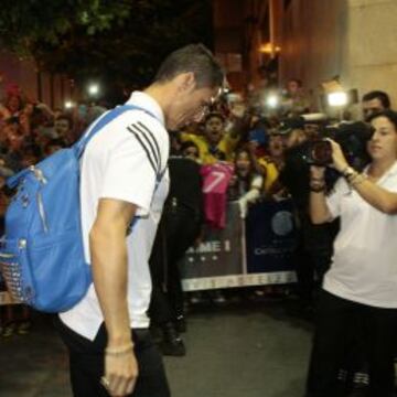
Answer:
[{"label": "black pants of the woman holding up a camera", "polygon": [[320,293],[316,330],[308,374],[308,397],[343,396],[337,374],[357,336],[365,339],[369,396],[390,397],[397,309],[379,309]]}]

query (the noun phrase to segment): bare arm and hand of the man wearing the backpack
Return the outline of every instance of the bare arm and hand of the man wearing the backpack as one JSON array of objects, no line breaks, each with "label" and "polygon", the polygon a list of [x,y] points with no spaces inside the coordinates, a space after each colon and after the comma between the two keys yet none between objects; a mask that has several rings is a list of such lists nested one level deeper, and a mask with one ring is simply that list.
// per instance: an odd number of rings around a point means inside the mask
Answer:
[{"label": "bare arm and hand of the man wearing the backpack", "polygon": [[94,286],[108,333],[103,385],[114,397],[130,394],[138,376],[127,299],[126,232],[137,207],[124,201],[100,198],[89,234]]}]

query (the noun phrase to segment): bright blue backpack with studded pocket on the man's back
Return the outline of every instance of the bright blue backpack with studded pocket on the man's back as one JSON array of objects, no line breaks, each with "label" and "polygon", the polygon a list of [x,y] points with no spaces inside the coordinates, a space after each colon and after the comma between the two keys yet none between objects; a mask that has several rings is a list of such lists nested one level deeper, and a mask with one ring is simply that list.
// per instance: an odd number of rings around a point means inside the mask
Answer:
[{"label": "bright blue backpack with studded pocket on the man's back", "polygon": [[8,180],[18,191],[6,213],[0,271],[13,300],[62,312],[86,294],[92,271],[81,227],[79,159],[96,132],[131,109],[140,108],[124,105],[104,114],[74,146]]}]

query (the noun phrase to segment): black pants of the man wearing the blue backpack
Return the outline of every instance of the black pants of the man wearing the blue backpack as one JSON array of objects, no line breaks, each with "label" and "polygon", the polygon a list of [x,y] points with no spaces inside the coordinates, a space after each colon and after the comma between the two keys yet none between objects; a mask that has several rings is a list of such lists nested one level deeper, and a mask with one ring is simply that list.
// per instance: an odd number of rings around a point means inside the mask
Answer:
[{"label": "black pants of the man wearing the blue backpack", "polygon": [[[107,341],[103,324],[92,342],[67,328],[58,318],[55,328],[69,353],[71,382],[74,397],[109,397],[100,385],[104,375],[104,351]],[[139,376],[130,397],[170,397],[161,355],[149,330],[132,330]]]}]

